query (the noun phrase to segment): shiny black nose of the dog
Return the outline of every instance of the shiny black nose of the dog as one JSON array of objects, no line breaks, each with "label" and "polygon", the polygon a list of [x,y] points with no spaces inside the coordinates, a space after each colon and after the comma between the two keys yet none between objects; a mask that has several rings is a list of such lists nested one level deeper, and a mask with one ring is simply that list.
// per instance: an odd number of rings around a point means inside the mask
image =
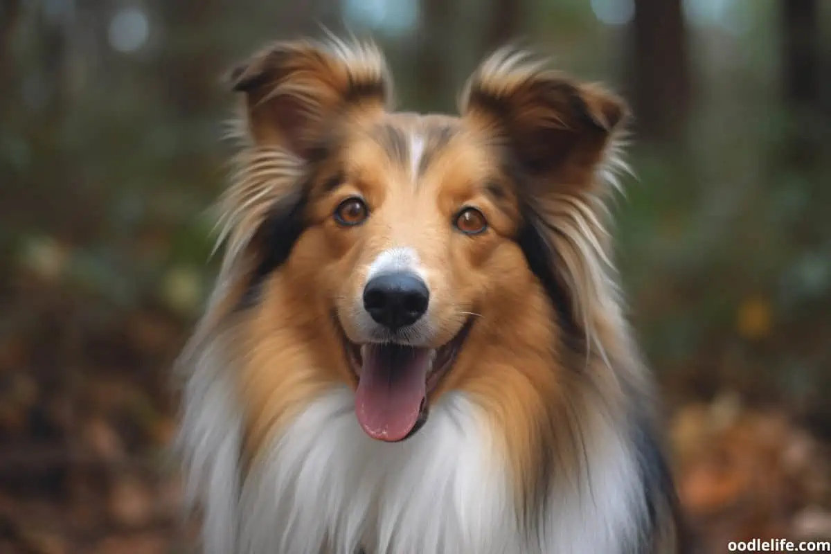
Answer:
[{"label": "shiny black nose of the dog", "polygon": [[372,319],[390,329],[411,325],[427,311],[430,291],[409,272],[372,277],[364,287],[364,309]]}]

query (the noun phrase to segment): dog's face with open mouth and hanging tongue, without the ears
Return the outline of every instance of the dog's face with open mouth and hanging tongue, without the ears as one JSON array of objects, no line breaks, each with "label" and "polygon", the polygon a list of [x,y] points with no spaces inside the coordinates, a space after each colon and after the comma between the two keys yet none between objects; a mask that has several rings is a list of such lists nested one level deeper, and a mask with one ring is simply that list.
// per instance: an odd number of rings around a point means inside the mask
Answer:
[{"label": "dog's face with open mouth and hanging tongue, without the ears", "polygon": [[293,269],[341,331],[364,429],[398,440],[528,270],[516,201],[475,130],[387,114],[352,127],[312,186]]}]

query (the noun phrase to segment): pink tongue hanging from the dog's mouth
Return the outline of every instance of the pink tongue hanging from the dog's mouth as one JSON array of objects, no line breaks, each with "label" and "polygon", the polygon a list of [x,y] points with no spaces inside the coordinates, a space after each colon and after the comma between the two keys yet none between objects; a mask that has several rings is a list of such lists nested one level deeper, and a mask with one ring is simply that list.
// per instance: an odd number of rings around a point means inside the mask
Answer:
[{"label": "pink tongue hanging from the dog's mouth", "polygon": [[429,351],[372,345],[363,353],[355,393],[358,423],[372,439],[404,439],[418,421],[425,397]]}]

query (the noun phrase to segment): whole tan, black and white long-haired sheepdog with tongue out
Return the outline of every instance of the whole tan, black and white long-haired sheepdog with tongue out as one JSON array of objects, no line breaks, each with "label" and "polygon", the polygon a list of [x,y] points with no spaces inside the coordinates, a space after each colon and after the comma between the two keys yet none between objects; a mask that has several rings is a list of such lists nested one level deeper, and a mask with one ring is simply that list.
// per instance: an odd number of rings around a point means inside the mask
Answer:
[{"label": "whole tan, black and white long-haired sheepdog with tongue out", "polygon": [[627,107],[504,48],[459,115],[368,42],[231,72],[224,257],[180,360],[209,554],[677,552],[606,203]]}]

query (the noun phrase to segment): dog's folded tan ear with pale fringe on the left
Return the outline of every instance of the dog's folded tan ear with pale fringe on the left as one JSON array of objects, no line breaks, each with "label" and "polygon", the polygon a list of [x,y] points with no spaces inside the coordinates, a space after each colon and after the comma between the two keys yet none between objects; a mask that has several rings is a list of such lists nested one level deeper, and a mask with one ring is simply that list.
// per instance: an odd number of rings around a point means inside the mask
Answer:
[{"label": "dog's folded tan ear with pale fringe on the left", "polygon": [[255,145],[278,146],[309,159],[337,118],[386,109],[391,79],[371,43],[278,42],[231,72],[245,95]]}]

